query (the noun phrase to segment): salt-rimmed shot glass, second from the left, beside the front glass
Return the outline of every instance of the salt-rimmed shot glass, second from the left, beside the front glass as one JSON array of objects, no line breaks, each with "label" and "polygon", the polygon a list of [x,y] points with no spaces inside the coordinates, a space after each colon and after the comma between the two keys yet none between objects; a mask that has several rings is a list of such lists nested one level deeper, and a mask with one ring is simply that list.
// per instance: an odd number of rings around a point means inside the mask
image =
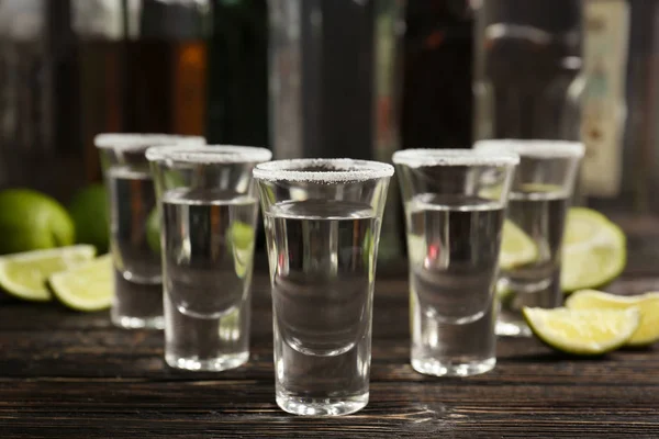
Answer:
[{"label": "salt-rimmed shot glass, second from the left, beside the front glass", "polygon": [[249,311],[258,196],[255,165],[268,149],[149,148],[158,196],[165,361],[222,371],[249,358]]}]

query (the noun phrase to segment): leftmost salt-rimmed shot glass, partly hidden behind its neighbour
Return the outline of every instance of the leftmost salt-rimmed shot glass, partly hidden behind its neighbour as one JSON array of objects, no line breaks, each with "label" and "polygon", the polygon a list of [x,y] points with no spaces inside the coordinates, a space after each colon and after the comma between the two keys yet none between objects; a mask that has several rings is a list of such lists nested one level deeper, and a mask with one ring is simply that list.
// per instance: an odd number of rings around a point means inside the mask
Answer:
[{"label": "leftmost salt-rimmed shot glass, partly hidden behind its neighbour", "polygon": [[145,153],[150,146],[170,144],[199,146],[205,139],[164,134],[94,137],[110,211],[110,250],[114,262],[111,318],[119,327],[164,327],[156,193]]}]

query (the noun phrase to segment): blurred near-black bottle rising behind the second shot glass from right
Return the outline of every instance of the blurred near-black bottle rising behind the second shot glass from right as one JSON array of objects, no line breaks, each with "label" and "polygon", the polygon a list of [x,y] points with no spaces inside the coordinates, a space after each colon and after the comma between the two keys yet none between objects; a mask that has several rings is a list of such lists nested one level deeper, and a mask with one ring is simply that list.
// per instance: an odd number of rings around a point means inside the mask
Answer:
[{"label": "blurred near-black bottle rising behind the second shot glass from right", "polygon": [[468,0],[409,0],[404,148],[469,148],[473,13]]}]

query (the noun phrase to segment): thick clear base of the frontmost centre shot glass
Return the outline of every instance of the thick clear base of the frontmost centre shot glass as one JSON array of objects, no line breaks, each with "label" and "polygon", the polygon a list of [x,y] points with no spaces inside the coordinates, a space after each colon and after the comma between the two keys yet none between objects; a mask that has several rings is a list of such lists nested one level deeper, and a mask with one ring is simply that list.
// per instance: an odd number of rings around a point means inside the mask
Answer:
[{"label": "thick clear base of the frontmost centre shot glass", "polygon": [[277,405],[300,416],[343,416],[359,412],[368,404],[368,392],[346,398],[312,398],[277,393]]}]

